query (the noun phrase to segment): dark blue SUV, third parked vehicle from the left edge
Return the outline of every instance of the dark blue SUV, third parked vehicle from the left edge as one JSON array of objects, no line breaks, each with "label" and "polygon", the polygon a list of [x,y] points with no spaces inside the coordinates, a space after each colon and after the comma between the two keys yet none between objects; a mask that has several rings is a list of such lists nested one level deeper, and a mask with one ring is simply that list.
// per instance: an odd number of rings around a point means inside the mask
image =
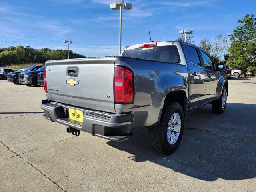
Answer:
[{"label": "dark blue SUV, third parked vehicle from the left edge", "polygon": [[44,71],[44,67],[42,65],[36,66],[33,70],[21,72],[19,74],[19,83],[25,84],[27,86],[37,85],[37,74]]}]

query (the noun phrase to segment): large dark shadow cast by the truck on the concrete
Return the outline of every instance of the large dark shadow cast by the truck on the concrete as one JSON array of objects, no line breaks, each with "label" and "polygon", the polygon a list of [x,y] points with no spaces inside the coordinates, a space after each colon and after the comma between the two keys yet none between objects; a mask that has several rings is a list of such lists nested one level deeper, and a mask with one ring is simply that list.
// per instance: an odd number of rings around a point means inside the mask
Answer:
[{"label": "large dark shadow cast by the truck on the concrete", "polygon": [[228,103],[226,112],[214,114],[206,105],[187,114],[182,142],[170,156],[154,152],[146,128],[133,129],[125,142],[108,145],[175,172],[205,181],[251,179],[256,176],[256,105]]}]

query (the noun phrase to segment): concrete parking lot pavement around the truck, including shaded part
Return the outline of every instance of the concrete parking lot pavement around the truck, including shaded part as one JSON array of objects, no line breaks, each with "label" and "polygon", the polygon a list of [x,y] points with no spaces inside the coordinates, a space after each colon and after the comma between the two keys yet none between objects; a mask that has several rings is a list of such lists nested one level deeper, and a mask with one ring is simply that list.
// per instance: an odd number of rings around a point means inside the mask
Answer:
[{"label": "concrete parking lot pavement around the truck, including shaded part", "polygon": [[180,147],[152,150],[146,128],[125,142],[74,137],[42,117],[41,87],[0,81],[0,191],[255,191],[256,78],[232,78],[226,112],[187,114]]}]

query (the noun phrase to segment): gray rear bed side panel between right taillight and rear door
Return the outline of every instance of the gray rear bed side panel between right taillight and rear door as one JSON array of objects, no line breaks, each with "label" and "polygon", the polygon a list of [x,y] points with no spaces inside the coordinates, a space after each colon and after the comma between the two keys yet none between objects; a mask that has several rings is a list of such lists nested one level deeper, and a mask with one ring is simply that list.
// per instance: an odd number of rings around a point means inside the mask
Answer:
[{"label": "gray rear bed side panel between right taillight and rear door", "polygon": [[188,94],[186,65],[124,57],[116,57],[114,62],[130,68],[134,74],[134,103],[115,104],[117,114],[134,114],[132,128],[158,122],[168,93],[183,90]]}]

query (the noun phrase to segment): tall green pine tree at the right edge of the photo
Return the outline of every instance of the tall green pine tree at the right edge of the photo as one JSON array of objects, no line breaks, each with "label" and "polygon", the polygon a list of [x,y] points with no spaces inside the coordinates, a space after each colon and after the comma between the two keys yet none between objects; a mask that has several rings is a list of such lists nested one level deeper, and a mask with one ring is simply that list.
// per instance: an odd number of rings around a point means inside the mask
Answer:
[{"label": "tall green pine tree at the right edge of the photo", "polygon": [[241,69],[246,77],[247,70],[256,67],[256,17],[246,14],[238,24],[230,37],[228,65]]}]

